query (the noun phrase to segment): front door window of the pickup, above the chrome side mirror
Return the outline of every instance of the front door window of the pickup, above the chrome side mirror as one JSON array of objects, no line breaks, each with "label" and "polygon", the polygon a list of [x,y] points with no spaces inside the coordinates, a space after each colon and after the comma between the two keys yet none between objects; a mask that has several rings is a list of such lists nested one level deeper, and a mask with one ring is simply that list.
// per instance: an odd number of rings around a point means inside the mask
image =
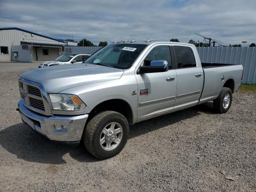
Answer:
[{"label": "front door window of the pickup, above the chrome side mirror", "polygon": [[144,59],[144,65],[150,66],[150,62],[156,60],[156,61],[162,61],[166,60],[169,65],[169,69],[172,68],[172,59],[171,59],[171,53],[170,48],[168,45],[160,45],[154,47],[146,56]]}]

